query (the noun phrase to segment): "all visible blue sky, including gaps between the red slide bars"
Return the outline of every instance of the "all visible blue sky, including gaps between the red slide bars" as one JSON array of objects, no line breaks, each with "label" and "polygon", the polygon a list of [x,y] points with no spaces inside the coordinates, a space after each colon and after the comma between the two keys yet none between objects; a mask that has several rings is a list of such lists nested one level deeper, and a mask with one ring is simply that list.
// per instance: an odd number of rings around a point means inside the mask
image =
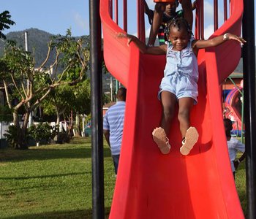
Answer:
[{"label": "all visible blue sky, including gaps between the red slide bars", "polygon": [[[153,0],[146,0],[148,7],[154,9]],[[120,2],[120,0],[119,0]],[[136,34],[136,9],[135,0],[128,0],[128,32]],[[213,33],[213,0],[204,0],[205,7],[205,38]],[[222,2],[222,1],[219,1]],[[121,7],[121,3],[119,3]],[[89,0],[7,0],[1,1],[0,12],[8,10],[16,25],[5,30],[4,34],[10,31],[23,31],[28,28],[38,28],[50,34],[66,34],[71,28],[75,37],[89,34]],[[255,9],[256,12],[256,9]],[[219,3],[219,26],[223,20],[223,9]],[[121,23],[120,23],[121,25]],[[146,36],[150,26],[146,20]]]}]

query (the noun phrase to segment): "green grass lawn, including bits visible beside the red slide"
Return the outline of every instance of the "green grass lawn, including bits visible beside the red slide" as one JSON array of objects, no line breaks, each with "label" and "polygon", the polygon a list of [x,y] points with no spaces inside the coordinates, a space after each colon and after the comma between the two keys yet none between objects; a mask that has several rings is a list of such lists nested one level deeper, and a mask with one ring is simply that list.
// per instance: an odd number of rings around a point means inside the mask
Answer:
[{"label": "green grass lawn, including bits visible beside the red slide", "polygon": [[[116,177],[107,145],[104,155],[108,218]],[[0,169],[0,218],[91,218],[91,139],[0,150]],[[242,162],[236,185],[244,211],[245,184]]]}]

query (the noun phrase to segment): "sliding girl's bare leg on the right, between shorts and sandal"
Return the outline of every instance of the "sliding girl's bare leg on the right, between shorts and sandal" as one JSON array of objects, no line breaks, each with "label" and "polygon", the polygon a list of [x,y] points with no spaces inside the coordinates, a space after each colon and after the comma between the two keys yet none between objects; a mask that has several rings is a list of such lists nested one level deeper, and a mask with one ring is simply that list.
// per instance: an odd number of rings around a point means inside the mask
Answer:
[{"label": "sliding girl's bare leg on the right, between shorts and sandal", "polygon": [[190,97],[178,99],[178,121],[182,139],[185,137],[186,131],[190,127],[190,112],[193,105],[194,99]]}]

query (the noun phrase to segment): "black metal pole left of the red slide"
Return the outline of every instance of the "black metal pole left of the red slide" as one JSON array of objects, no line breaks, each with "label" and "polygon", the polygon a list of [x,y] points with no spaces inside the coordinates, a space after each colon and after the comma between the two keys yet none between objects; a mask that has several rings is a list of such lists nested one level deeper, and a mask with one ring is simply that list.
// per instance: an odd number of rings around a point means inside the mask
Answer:
[{"label": "black metal pole left of the red slide", "polygon": [[102,33],[99,0],[90,0],[92,218],[105,218],[102,128]]}]

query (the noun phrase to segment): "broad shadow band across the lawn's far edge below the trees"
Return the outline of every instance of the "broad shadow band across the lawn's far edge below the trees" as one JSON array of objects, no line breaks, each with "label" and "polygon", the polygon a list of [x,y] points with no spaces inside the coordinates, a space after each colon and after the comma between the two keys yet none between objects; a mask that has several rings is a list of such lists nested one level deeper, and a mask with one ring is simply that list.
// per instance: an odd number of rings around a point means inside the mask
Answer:
[{"label": "broad shadow band across the lawn's far edge below the trees", "polygon": [[[29,161],[29,160],[47,160],[59,158],[91,158],[91,148],[40,148],[29,150],[14,150],[7,148],[0,150],[0,162],[3,161]],[[103,149],[104,157],[110,157],[108,148]]]}]

